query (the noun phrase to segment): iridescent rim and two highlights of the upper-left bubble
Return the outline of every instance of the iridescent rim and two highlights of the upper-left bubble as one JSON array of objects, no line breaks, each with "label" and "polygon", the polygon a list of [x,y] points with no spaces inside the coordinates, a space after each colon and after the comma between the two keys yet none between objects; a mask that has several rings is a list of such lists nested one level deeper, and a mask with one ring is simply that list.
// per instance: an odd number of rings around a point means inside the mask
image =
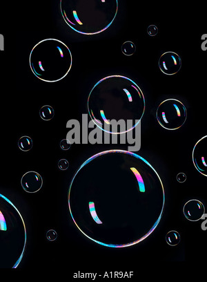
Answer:
[{"label": "iridescent rim and two highlights of the upper-left bubble", "polygon": [[[49,40],[57,41],[57,42],[63,44],[63,46],[65,46],[65,47],[68,49],[68,52],[70,53],[70,60],[71,60],[71,62],[70,62],[70,66],[69,66],[69,68],[68,68],[68,71],[66,72],[65,75],[63,75],[63,76],[60,77],[59,79],[55,79],[55,80],[48,80],[48,79],[43,79],[43,78],[41,78],[41,77],[40,77],[40,74],[37,73],[37,71],[35,71],[34,66],[33,66],[33,64],[31,63],[31,56],[32,56],[32,52],[33,52],[34,48],[36,48],[36,47],[37,47],[39,44],[41,44],[42,42],[44,42],[44,41],[49,41]],[[59,46],[57,46],[57,48],[60,49]],[[60,52],[61,57],[63,57],[63,52],[60,51],[60,50],[59,50],[59,52]],[[63,79],[64,77],[66,77],[66,75],[68,75],[68,73],[69,73],[69,71],[70,71],[70,68],[71,68],[71,66],[72,66],[72,54],[71,54],[70,49],[68,48],[68,46],[66,46],[66,44],[64,44],[62,41],[60,41],[60,40],[58,40],[58,39],[54,39],[54,38],[48,38],[48,39],[43,39],[43,40],[39,41],[39,42],[32,48],[32,51],[30,52],[30,59],[29,59],[29,62],[30,62],[30,68],[31,68],[32,73],[34,73],[34,75],[35,75],[36,77],[38,77],[39,79],[43,80],[43,82],[58,82],[59,80],[61,80],[61,79]],[[39,62],[39,67],[42,68],[41,62]]]}]

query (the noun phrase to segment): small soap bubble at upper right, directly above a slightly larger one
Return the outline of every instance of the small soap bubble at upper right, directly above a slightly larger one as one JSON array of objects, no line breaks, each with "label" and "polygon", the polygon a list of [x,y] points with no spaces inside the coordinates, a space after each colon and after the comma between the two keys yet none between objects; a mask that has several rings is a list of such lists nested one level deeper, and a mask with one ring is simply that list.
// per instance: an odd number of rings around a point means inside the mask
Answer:
[{"label": "small soap bubble at upper right, directly above a slightly larger one", "polygon": [[166,52],[159,58],[159,69],[166,75],[175,75],[181,68],[181,58],[175,52]]}]

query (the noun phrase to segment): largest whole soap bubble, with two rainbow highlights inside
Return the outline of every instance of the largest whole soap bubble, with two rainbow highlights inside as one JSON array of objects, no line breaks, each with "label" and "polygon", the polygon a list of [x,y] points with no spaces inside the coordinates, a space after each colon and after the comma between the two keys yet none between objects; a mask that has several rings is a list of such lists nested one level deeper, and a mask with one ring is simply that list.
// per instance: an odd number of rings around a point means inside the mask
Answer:
[{"label": "largest whole soap bubble, with two rainbow highlights inside", "polygon": [[86,237],[106,247],[128,247],[157,227],[164,209],[164,187],[144,158],[129,151],[103,151],[78,169],[68,205]]}]

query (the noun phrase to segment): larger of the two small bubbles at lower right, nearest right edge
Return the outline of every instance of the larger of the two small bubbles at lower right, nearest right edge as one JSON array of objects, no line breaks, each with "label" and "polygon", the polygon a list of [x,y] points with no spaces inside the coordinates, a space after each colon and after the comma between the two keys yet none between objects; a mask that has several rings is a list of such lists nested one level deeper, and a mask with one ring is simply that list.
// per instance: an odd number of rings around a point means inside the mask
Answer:
[{"label": "larger of the two small bubbles at lower right, nearest right edge", "polygon": [[199,200],[188,200],[184,205],[184,216],[191,221],[197,221],[205,214],[205,207]]}]

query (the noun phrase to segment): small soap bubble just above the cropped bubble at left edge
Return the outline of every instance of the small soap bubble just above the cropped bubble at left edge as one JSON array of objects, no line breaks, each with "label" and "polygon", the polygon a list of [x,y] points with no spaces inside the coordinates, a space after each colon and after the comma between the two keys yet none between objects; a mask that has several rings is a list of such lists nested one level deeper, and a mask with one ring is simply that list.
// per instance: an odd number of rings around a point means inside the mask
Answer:
[{"label": "small soap bubble just above the cropped bubble at left edge", "polygon": [[28,171],[21,178],[21,187],[28,193],[35,193],[41,189],[43,180],[39,173]]}]

